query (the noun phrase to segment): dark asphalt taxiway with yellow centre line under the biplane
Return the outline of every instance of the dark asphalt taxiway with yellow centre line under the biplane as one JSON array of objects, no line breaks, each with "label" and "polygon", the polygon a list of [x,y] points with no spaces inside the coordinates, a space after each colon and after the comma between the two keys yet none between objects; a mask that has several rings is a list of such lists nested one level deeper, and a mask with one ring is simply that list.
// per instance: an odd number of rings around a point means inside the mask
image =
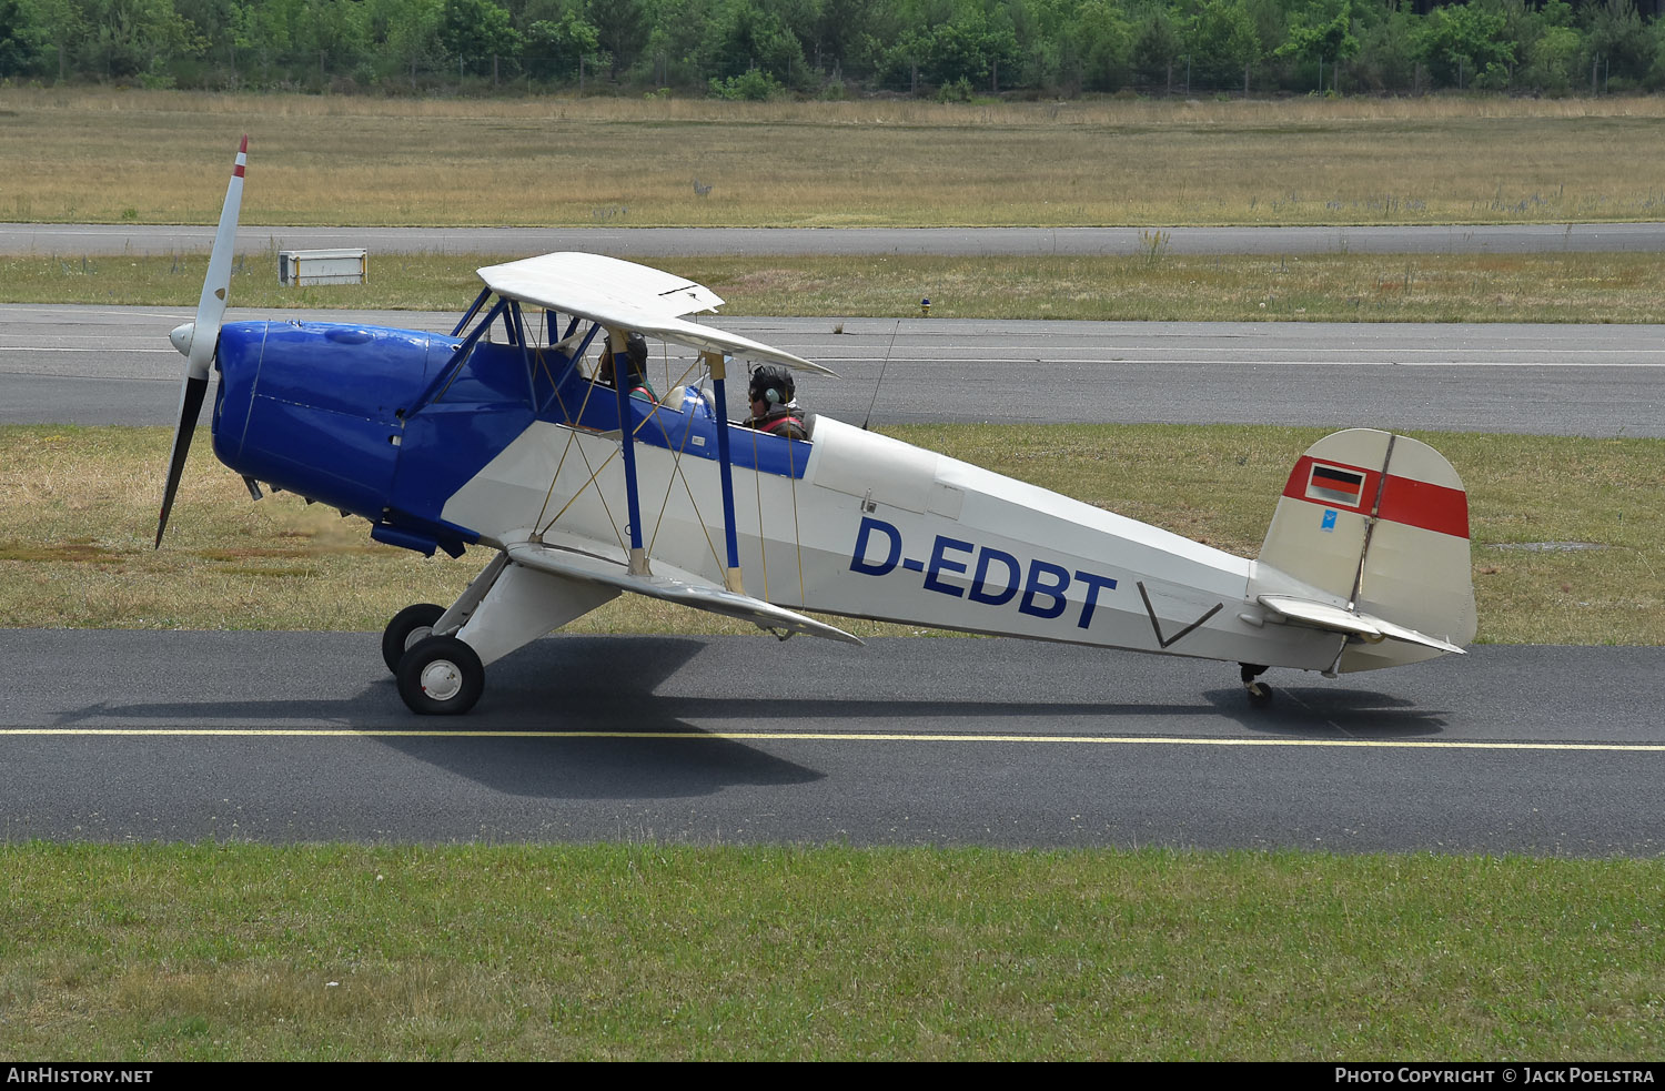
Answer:
[{"label": "dark asphalt taxiway with yellow centre line under the biplane", "polygon": [[[1665,851],[1665,650],[1324,681],[1006,640],[556,636],[416,720],[363,633],[0,631],[7,838]],[[1282,676],[1280,676],[1282,675]]]}]

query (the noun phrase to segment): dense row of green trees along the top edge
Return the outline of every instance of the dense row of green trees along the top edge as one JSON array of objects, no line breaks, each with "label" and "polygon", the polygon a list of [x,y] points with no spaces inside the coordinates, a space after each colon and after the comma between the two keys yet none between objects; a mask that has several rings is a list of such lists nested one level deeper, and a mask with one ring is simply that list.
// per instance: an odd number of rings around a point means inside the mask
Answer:
[{"label": "dense row of green trees along the top edge", "polygon": [[942,100],[1652,92],[1662,3],[0,0],[0,80]]}]

